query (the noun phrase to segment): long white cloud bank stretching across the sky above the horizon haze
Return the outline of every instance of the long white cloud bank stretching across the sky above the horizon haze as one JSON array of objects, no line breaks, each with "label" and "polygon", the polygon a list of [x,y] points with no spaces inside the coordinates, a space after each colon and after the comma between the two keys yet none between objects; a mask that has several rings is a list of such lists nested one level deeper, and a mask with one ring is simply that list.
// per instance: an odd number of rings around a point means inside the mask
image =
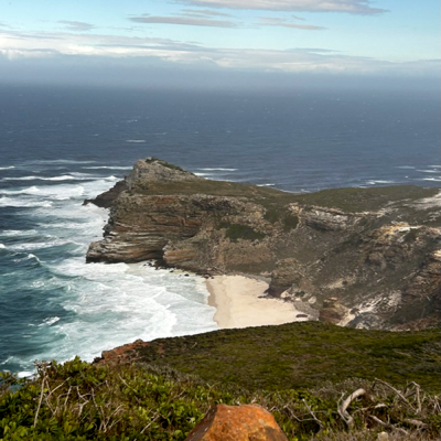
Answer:
[{"label": "long white cloud bank stretching across the sky above the horizon haze", "polygon": [[[249,72],[326,75],[400,75],[439,76],[440,60],[390,62],[363,56],[349,56],[320,47],[290,50],[251,50],[209,47],[172,39],[141,37],[97,33],[25,33],[0,32],[4,60],[41,58],[41,65],[51,61],[69,60],[72,65],[90,63],[118,66],[152,65],[168,68],[191,68],[209,72]],[[101,62],[100,62],[101,61]],[[49,62],[47,62],[49,63]],[[47,64],[49,65],[49,64]],[[147,66],[147,67],[146,67]],[[174,66],[174,67],[173,67]],[[84,67],[86,68],[86,67]],[[122,68],[122,67],[121,67]],[[146,71],[147,72],[147,71]],[[26,73],[24,72],[23,75]],[[32,75],[32,69],[28,75]]]}]

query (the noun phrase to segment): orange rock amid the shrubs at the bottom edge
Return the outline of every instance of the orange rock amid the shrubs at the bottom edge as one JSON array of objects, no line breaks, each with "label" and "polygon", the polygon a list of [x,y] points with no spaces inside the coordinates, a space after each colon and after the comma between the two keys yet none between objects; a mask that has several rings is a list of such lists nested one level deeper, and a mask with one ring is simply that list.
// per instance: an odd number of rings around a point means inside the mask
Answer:
[{"label": "orange rock amid the shrubs at the bottom edge", "polygon": [[288,441],[275,417],[260,406],[217,405],[185,441]]}]

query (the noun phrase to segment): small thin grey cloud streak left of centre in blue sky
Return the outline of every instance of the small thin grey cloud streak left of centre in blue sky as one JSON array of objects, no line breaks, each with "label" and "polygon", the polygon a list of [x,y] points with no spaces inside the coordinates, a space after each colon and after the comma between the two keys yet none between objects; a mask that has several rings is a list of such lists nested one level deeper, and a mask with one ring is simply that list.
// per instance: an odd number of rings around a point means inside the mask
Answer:
[{"label": "small thin grey cloud streak left of centre in blue sky", "polygon": [[[189,10],[186,10],[189,11]],[[212,19],[214,14],[206,12],[195,12],[190,10],[184,14],[159,17],[143,14],[141,17],[131,17],[129,20],[136,23],[153,23],[153,24],[181,24],[187,26],[209,26],[209,28],[237,28],[237,24],[230,20]]]}]

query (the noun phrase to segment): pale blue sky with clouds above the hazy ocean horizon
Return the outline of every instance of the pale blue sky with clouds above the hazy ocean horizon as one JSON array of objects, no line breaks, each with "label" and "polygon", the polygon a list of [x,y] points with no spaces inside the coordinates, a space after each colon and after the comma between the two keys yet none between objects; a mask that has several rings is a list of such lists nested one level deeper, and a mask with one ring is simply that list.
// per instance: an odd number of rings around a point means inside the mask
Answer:
[{"label": "pale blue sky with clouds above the hazy ocean horizon", "polygon": [[440,79],[439,0],[0,0],[0,83]]}]

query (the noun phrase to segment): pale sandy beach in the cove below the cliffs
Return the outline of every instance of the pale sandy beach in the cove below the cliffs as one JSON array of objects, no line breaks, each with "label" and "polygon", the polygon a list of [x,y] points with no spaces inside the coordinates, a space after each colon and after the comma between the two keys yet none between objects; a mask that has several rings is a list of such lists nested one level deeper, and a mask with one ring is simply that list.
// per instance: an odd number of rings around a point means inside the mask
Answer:
[{"label": "pale sandy beach in the cove below the cliffs", "polygon": [[268,283],[243,276],[215,276],[206,281],[208,303],[216,308],[214,320],[219,327],[247,327],[306,320],[292,303],[261,299]]}]

